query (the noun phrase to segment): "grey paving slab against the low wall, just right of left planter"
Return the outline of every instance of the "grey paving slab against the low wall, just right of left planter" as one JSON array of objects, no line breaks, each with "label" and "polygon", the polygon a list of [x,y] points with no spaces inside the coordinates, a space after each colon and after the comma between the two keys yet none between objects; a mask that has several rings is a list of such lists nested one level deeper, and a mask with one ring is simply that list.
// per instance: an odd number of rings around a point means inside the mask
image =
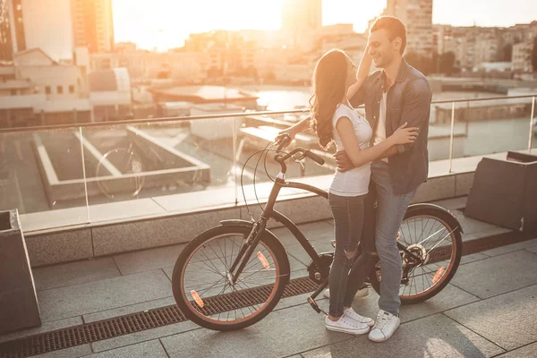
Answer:
[{"label": "grey paving slab against the low wall, just right of left planter", "polygon": [[121,273],[112,258],[83,260],[33,269],[38,291],[118,276],[121,276]]}]

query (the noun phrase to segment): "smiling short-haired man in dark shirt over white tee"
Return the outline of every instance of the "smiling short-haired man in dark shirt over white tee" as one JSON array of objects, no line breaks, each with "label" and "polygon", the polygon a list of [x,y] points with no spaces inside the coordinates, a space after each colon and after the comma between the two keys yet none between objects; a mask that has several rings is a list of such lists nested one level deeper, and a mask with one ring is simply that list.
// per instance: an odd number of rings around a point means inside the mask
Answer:
[{"label": "smiling short-haired man in dark shirt over white tee", "polygon": [[[370,208],[364,220],[367,225],[364,226],[365,235],[362,234],[362,247],[365,246],[365,255],[371,255],[372,249],[368,249],[367,239],[370,236],[371,241],[371,236],[375,237],[382,277],[379,314],[369,334],[369,338],[375,342],[386,341],[400,324],[402,262],[396,237],[414,193],[427,180],[429,168],[427,135],[431,91],[422,72],[407,64],[403,58],[405,47],[406,29],[402,21],[391,16],[383,16],[375,21],[370,29],[368,51],[381,70],[371,73],[350,99],[353,107],[365,105],[365,117],[373,129],[372,145],[386,139],[405,122],[409,127],[420,129],[413,144],[388,149],[384,159],[371,163],[371,185],[367,200]],[[308,125],[309,118],[306,118],[281,134],[294,137]],[[345,152],[336,153],[336,160],[340,171],[354,167]],[[375,201],[376,217],[372,214]],[[371,260],[367,260],[366,256],[365,261]]]}]

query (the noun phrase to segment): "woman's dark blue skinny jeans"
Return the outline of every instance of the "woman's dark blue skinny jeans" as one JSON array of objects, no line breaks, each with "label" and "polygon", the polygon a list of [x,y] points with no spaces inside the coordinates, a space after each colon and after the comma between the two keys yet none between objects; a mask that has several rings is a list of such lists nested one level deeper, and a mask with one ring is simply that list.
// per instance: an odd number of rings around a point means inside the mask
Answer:
[{"label": "woman's dark blue skinny jeans", "polygon": [[[328,313],[334,317],[343,315],[347,281],[354,281],[355,279],[349,275],[349,270],[353,266],[354,257],[347,257],[347,253],[356,254],[358,250],[358,243],[360,243],[360,237],[362,235],[364,198],[365,195],[339,196],[332,193],[328,195],[330,208],[334,216],[334,231],[336,235],[336,251],[328,278],[330,289]],[[354,263],[357,263],[357,261]],[[356,291],[358,287],[356,287]],[[356,291],[354,291],[354,294]],[[350,306],[350,304],[345,304],[345,307]]]}]

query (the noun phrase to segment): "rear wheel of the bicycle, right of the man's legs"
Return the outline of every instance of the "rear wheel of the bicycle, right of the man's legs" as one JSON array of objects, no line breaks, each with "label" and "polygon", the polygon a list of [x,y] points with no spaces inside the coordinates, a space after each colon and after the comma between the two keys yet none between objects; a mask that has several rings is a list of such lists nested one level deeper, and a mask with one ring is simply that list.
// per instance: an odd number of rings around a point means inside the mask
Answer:
[{"label": "rear wheel of the bicycle, right of the man's legs", "polygon": [[[402,252],[403,277],[399,289],[402,304],[422,303],[447,286],[459,266],[463,240],[450,214],[442,209],[415,209],[405,215],[398,242],[421,260]],[[371,273],[371,286],[380,293],[380,263]]]}]

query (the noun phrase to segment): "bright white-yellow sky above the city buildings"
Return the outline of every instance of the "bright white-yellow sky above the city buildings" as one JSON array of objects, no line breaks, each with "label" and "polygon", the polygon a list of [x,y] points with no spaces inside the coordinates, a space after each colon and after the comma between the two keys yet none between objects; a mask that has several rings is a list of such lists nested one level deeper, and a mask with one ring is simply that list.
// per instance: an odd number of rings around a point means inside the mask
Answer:
[{"label": "bright white-yellow sky above the city buildings", "polygon": [[[181,47],[209,30],[277,30],[283,0],[113,0],[115,41],[141,48]],[[354,23],[363,32],[386,0],[324,0],[323,25]],[[433,23],[511,26],[537,20],[535,0],[434,0]]]}]

